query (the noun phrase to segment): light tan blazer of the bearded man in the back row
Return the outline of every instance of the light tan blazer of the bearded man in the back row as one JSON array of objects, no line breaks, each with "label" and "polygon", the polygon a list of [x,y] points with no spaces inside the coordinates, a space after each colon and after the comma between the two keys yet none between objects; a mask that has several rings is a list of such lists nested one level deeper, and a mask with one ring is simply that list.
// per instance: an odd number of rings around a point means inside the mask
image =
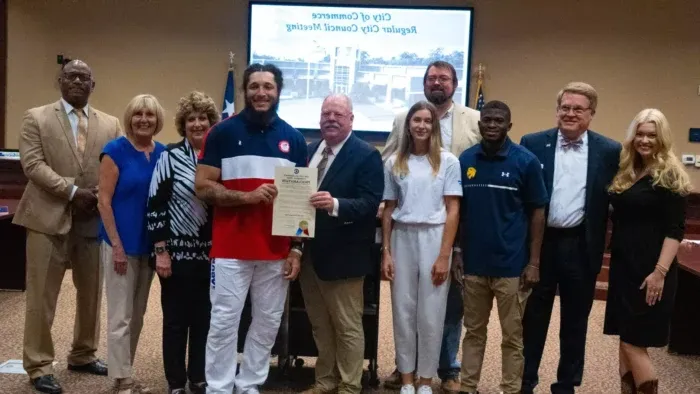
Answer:
[{"label": "light tan blazer of the bearded man in the back row", "polygon": [[[408,111],[396,115],[391,134],[389,134],[382,151],[382,160],[386,161],[401,146],[401,141],[406,135],[403,130],[406,115],[408,115]],[[467,148],[471,148],[481,141],[479,116],[479,111],[454,103],[450,152],[455,156],[459,157]]]}]

